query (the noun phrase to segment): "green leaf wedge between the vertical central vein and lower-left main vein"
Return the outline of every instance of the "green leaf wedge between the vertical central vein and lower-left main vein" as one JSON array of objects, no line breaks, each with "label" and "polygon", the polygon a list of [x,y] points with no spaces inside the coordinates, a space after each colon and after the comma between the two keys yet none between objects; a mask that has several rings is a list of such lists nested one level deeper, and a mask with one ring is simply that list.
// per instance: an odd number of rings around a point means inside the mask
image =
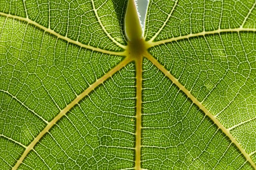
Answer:
[{"label": "green leaf wedge between the vertical central vein and lower-left main vein", "polygon": [[19,169],[134,167],[135,89],[130,63],[62,117]]}]

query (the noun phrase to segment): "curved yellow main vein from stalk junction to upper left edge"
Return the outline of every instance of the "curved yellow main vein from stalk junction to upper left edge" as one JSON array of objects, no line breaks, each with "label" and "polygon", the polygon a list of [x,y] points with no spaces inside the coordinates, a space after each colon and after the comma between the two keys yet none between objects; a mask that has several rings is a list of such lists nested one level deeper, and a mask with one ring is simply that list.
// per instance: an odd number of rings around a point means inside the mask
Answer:
[{"label": "curved yellow main vein from stalk junction to upper left edge", "polygon": [[93,50],[93,51],[96,51],[96,52],[101,52],[101,53],[105,53],[105,54],[110,54],[110,55],[119,55],[119,56],[123,56],[125,53],[124,52],[112,52],[112,51],[108,51],[108,50],[103,50],[101,48],[96,48],[96,47],[93,47],[93,46],[90,46],[90,45],[86,45],[86,44],[82,44],[81,42],[78,42],[78,41],[75,41],[75,40],[72,40],[68,37],[65,37],[65,36],[62,36],[56,32],[54,32],[53,30],[49,29],[49,28],[46,28],[44,26],[41,26],[39,25],[39,23],[31,20],[31,19],[28,19],[28,18],[23,18],[23,17],[20,17],[20,16],[15,16],[15,15],[11,15],[11,14],[5,14],[3,12],[0,12],[0,15],[2,16],[6,16],[6,17],[9,17],[9,18],[14,18],[14,19],[19,19],[19,20],[22,20],[22,21],[26,21],[28,22],[28,24],[32,24],[36,27],[38,27],[39,29],[42,29],[44,30],[45,32],[48,32],[58,38],[61,38],[63,40],[66,40],[70,43],[73,43],[73,44],[76,44],[78,46],[81,46],[81,47],[84,47],[84,48],[88,48],[89,50]]}]

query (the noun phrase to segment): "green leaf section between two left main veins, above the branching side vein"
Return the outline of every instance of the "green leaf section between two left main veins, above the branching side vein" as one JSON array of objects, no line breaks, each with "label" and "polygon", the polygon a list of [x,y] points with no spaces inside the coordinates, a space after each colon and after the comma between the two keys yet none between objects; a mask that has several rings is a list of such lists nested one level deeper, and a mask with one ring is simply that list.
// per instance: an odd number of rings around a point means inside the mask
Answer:
[{"label": "green leaf section between two left main veins, above the branching side vein", "polygon": [[68,43],[26,22],[1,17],[1,23],[1,90],[47,121],[122,59]]}]

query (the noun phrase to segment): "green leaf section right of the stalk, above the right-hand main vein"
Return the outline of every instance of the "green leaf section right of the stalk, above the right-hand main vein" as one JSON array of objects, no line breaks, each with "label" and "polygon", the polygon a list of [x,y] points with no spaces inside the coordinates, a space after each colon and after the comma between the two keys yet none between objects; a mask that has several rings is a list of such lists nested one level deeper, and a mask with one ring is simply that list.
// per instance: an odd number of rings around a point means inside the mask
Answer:
[{"label": "green leaf section right of the stalk, above the right-hand main vein", "polygon": [[[256,28],[255,1],[150,1],[146,40],[155,41],[218,29]],[[248,15],[250,14],[250,15]],[[160,30],[160,32],[159,32]],[[159,32],[159,33],[158,33]]]}]

